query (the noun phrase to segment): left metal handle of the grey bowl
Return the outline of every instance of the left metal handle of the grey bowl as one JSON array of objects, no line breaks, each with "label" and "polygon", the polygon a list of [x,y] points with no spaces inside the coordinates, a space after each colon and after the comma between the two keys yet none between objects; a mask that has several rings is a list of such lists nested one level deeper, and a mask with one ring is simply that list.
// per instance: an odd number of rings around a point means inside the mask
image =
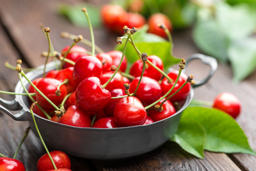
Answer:
[{"label": "left metal handle of the grey bowl", "polygon": [[[16,100],[12,100],[12,101],[8,101],[8,100],[3,100],[2,98],[0,98],[0,110],[3,111],[4,113],[8,114],[10,117],[12,117],[12,119],[14,119],[15,121],[29,121],[29,113],[24,110],[24,108],[22,108],[20,110],[20,105]],[[5,108],[6,107],[6,108]],[[12,112],[10,112],[9,110],[20,110],[19,113],[13,115]]]}]

